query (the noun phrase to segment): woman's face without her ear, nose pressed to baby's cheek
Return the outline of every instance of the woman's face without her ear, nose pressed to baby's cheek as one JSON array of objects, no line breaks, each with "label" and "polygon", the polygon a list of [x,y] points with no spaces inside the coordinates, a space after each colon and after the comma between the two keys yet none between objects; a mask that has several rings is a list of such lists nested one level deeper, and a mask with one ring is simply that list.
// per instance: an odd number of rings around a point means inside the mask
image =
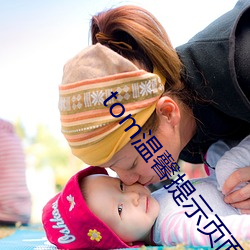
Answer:
[{"label": "woman's face without her ear, nose pressed to baby's cheek", "polygon": [[[152,136],[153,135],[145,135],[145,139],[143,139],[143,133],[139,134],[124,148],[118,151],[110,161],[102,164],[101,167],[108,167],[114,170],[121,180],[127,185],[139,182],[142,185],[147,186],[149,184],[157,183],[166,179],[164,178],[161,180],[158,174],[151,167],[155,164],[154,160],[157,159],[157,156],[162,156],[164,153],[167,154],[166,150],[172,156],[171,161],[176,161],[181,150],[180,139],[178,133],[172,131],[172,129],[169,127],[165,127],[164,130],[159,127],[155,133],[155,137],[163,147],[154,153],[147,143],[147,140]],[[131,143],[140,139],[141,142],[131,145]],[[152,156],[148,159],[148,162],[145,162],[144,160],[144,158],[150,156],[147,154],[147,151],[142,152],[142,155],[145,154],[143,158],[143,156],[140,155],[140,153],[135,148],[135,146],[138,147],[142,143],[144,143],[152,153]]]}]

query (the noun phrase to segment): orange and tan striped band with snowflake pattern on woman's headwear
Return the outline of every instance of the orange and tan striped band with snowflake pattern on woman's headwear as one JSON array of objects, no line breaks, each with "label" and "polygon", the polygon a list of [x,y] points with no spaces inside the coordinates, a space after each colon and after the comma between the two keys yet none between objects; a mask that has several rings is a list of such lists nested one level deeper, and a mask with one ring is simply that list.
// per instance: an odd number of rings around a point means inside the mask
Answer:
[{"label": "orange and tan striped band with snowflake pattern on woman's headwear", "polygon": [[[105,107],[104,101],[116,91],[117,99],[111,98]],[[144,70],[62,84],[59,86],[62,133],[71,147],[96,143],[119,129],[119,121],[128,114],[138,114],[155,104],[163,92],[160,77]],[[114,103],[125,108],[119,118],[110,114]],[[122,108],[116,105],[112,112],[120,114]]]}]

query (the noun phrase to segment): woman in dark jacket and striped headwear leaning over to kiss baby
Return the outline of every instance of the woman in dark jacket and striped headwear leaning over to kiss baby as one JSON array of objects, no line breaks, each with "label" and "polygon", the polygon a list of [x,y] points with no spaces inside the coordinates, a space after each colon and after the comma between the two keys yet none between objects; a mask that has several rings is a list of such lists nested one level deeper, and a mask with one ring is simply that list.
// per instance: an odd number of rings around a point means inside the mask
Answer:
[{"label": "woman in dark jacket and striped headwear leaning over to kiss baby", "polygon": [[[174,160],[201,163],[217,140],[250,134],[249,14],[250,1],[239,1],[176,51],[144,9],[122,6],[94,16],[96,45],[65,65],[60,87],[62,132],[73,153],[87,164],[113,169],[126,184],[149,185],[160,179],[151,168],[154,157],[138,153],[138,140],[149,143],[154,135],[163,146],[155,156],[167,150]],[[115,102],[120,109],[111,106]],[[129,112],[142,133],[130,129]],[[249,180],[246,166],[225,185],[229,192]],[[249,191],[250,185],[225,201],[250,211]]]}]

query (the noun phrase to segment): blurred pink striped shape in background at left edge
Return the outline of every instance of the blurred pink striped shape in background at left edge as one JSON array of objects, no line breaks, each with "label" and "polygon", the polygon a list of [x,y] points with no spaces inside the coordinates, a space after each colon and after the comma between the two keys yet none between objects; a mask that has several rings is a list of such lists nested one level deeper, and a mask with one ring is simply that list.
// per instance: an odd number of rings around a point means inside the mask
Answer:
[{"label": "blurred pink striped shape in background at left edge", "polygon": [[12,124],[1,119],[0,147],[0,224],[28,223],[31,197],[26,185],[24,152]]}]

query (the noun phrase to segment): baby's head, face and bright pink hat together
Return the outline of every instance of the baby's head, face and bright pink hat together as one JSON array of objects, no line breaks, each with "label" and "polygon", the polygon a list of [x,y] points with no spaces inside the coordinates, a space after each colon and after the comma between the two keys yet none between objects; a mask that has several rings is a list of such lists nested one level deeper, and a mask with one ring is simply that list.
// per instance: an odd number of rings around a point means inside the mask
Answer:
[{"label": "baby's head, face and bright pink hat together", "polygon": [[104,168],[71,177],[43,210],[48,240],[60,249],[129,248],[149,239],[159,204],[141,184],[125,186]]}]

